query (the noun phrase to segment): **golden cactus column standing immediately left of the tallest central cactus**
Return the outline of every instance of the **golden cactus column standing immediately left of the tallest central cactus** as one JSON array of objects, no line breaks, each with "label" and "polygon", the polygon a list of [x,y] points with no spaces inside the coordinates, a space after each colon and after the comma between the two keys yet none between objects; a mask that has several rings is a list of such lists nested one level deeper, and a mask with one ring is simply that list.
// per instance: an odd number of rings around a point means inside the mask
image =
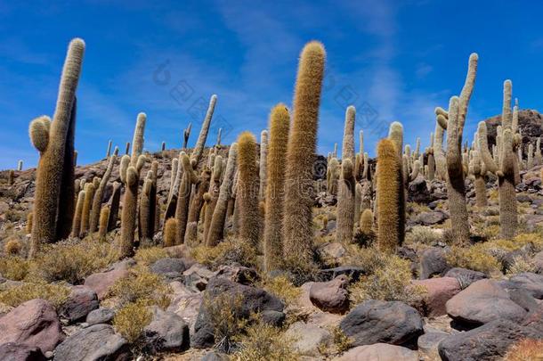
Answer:
[{"label": "golden cactus column standing immediately left of the tallest central cactus", "polygon": [[277,104],[270,114],[270,142],[267,157],[267,181],[264,212],[264,269],[279,269],[283,261],[282,222],[290,115],[285,104]]}]

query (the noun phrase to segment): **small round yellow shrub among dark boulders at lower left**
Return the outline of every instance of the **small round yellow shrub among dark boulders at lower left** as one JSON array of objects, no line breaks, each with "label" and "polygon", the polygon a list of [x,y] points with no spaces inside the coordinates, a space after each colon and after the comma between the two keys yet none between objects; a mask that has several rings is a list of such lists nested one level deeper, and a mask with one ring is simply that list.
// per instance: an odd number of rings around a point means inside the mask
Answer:
[{"label": "small round yellow shrub among dark boulders at lower left", "polygon": [[113,317],[115,331],[128,342],[140,339],[145,327],[152,321],[153,314],[145,302],[128,303],[119,308]]}]

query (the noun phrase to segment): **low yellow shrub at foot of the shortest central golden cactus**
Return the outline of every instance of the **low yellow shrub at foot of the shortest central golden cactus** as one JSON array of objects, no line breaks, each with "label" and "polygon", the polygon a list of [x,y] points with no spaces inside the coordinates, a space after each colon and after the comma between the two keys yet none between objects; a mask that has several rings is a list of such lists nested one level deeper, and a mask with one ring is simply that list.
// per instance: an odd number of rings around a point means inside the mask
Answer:
[{"label": "low yellow shrub at foot of the shortest central golden cactus", "polygon": [[240,264],[245,267],[256,265],[256,250],[247,241],[230,239],[215,247],[199,246],[191,250],[190,255],[197,262],[207,267]]}]

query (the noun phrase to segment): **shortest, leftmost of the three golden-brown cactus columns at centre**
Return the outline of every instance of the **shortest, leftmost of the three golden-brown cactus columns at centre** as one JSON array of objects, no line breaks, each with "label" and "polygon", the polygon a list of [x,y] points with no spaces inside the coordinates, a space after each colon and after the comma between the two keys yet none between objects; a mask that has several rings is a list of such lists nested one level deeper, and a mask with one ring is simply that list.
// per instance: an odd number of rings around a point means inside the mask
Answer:
[{"label": "shortest, leftmost of the three golden-brown cactus columns at centre", "polygon": [[255,135],[249,132],[238,137],[239,178],[237,201],[239,201],[239,236],[251,243],[258,244],[261,214],[258,209],[258,168],[256,166]]}]

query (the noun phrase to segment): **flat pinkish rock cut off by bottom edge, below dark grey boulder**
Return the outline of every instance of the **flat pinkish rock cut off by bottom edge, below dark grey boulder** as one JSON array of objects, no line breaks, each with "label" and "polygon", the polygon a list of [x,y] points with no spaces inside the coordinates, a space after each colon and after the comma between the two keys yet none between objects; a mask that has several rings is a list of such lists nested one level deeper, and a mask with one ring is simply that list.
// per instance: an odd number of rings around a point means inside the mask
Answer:
[{"label": "flat pinkish rock cut off by bottom edge, below dark grey boulder", "polygon": [[350,349],[337,361],[418,361],[417,351],[387,343],[359,346]]}]

